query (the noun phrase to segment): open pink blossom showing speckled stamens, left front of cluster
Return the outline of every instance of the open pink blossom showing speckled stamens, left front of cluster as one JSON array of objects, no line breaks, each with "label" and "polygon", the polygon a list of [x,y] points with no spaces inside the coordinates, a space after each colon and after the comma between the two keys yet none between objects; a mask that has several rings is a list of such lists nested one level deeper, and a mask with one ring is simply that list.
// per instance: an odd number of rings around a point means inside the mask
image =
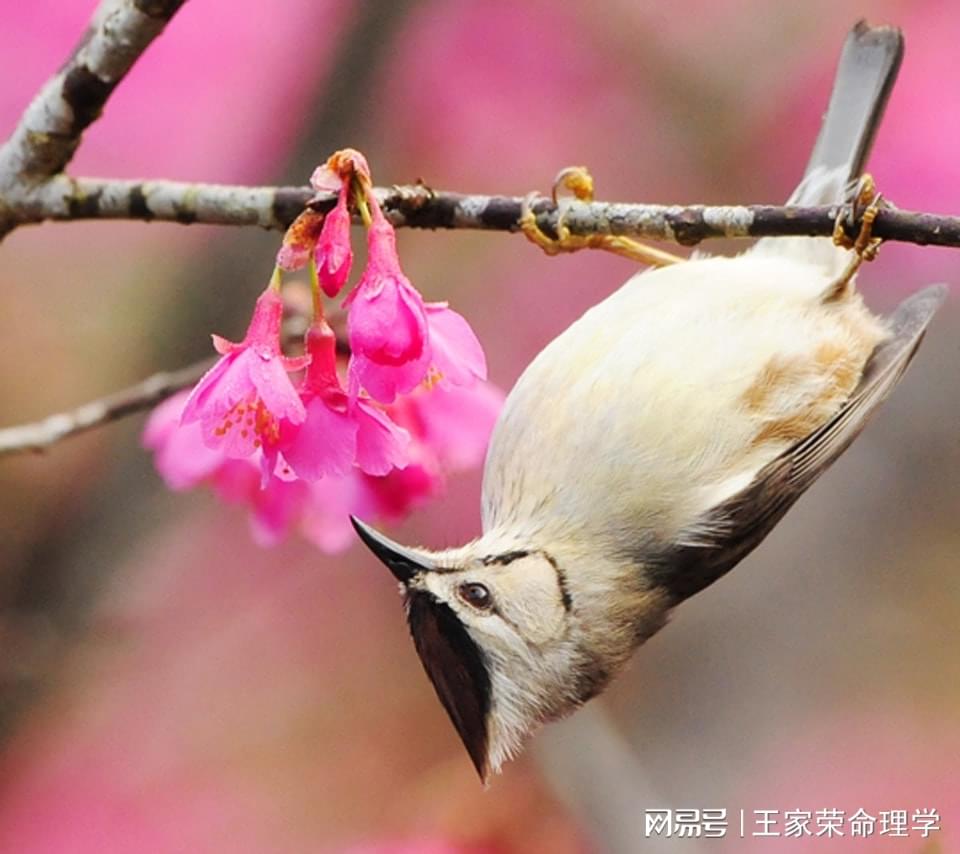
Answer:
[{"label": "open pink blossom showing speckled stamens, left front of cluster", "polygon": [[222,358],[187,399],[183,424],[200,422],[203,441],[228,457],[248,457],[279,439],[281,419],[299,424],[306,417],[288,371],[306,364],[280,352],[283,302],[267,288],[257,300],[243,341],[213,336]]}]

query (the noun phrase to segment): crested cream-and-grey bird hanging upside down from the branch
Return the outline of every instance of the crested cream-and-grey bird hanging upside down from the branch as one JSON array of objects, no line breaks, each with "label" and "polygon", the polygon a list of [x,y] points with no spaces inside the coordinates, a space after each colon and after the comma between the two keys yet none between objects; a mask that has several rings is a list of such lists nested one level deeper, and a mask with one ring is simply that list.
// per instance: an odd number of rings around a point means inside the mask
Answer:
[{"label": "crested cream-and-grey bird hanging upside down from the branch", "polygon": [[[788,204],[843,209],[902,54],[895,27],[851,30]],[[352,520],[399,581],[481,780],[752,551],[898,383],[946,289],[872,313],[855,277],[868,237],[853,253],[764,238],[639,272],[507,396],[476,539],[434,551]]]}]

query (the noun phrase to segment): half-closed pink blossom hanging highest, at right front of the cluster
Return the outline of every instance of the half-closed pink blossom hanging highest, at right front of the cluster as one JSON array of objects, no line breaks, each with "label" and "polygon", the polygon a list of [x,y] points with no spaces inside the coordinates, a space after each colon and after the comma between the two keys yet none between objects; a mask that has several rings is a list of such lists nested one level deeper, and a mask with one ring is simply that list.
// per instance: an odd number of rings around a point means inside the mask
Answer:
[{"label": "half-closed pink blossom hanging highest, at right front of the cluster", "polygon": [[[372,197],[371,197],[372,198]],[[367,234],[367,268],[347,297],[350,393],[363,386],[381,403],[415,388],[430,366],[423,297],[400,269],[396,235],[376,203]]]}]

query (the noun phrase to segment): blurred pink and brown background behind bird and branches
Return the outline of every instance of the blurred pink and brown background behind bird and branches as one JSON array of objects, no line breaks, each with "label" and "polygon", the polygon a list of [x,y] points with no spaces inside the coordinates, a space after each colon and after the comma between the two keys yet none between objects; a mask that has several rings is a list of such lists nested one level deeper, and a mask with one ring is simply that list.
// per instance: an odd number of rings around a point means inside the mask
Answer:
[{"label": "blurred pink and brown background behind bird and branches", "polygon": [[[93,7],[4,11],[0,132]],[[902,207],[956,212],[952,0],[190,0],[71,168],[302,183],[352,145],[382,184],[520,194],[584,163],[606,199],[776,202],[863,15],[907,36],[871,170]],[[15,232],[0,248],[0,423],[185,365],[210,331],[242,334],[276,241],[138,223]],[[469,317],[505,388],[632,272],[504,234],[403,232],[400,249],[428,298]],[[880,308],[935,280],[960,281],[957,250],[888,246],[861,279]],[[637,838],[647,808],[861,806],[935,808],[940,850],[957,850],[956,302],[763,547],[488,791],[364,551],[263,550],[238,508],[168,494],[142,416],[0,460],[0,850],[657,850]],[[478,497],[479,475],[458,477],[396,535],[462,541]]]}]

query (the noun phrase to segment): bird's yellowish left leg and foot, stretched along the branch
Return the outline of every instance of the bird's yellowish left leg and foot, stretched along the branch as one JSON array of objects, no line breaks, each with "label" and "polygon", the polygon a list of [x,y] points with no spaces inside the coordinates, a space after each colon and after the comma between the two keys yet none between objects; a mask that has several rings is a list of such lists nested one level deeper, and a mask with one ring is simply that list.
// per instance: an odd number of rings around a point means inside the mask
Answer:
[{"label": "bird's yellowish left leg and foot, stretched along the branch", "polygon": [[553,202],[557,205],[557,236],[555,238],[544,234],[537,224],[536,214],[533,212],[533,202],[538,194],[530,193],[523,200],[520,214],[520,230],[527,239],[539,246],[547,255],[557,255],[560,252],[578,252],[581,249],[604,249],[638,261],[652,267],[665,267],[685,260],[679,255],[654,249],[638,240],[629,237],[619,237],[612,234],[571,234],[564,222],[566,206],[560,198],[562,190],[572,194],[573,198],[581,202],[593,201],[593,176],[583,166],[569,166],[562,170],[553,182],[551,193]]}]

